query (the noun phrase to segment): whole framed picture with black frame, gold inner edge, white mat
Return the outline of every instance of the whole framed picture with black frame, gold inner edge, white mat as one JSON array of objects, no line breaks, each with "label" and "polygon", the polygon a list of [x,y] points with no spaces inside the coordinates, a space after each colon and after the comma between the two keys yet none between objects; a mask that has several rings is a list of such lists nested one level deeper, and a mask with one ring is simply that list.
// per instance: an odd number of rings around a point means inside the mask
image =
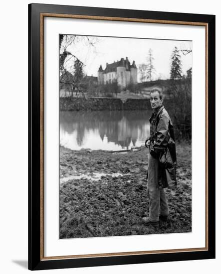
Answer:
[{"label": "whole framed picture with black frame, gold inner edge, white mat", "polygon": [[215,15],[28,16],[28,269],[215,258]]}]

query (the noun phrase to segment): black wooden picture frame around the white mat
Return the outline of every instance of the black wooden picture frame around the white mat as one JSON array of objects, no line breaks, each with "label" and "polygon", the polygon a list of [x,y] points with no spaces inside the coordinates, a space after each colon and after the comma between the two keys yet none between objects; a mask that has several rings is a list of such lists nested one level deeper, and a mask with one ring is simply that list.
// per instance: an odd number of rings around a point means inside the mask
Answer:
[{"label": "black wooden picture frame around the white mat", "polygon": [[[208,250],[42,260],[40,257],[40,13],[126,17],[208,24]],[[28,5],[28,269],[60,269],[215,258],[215,15]]]}]

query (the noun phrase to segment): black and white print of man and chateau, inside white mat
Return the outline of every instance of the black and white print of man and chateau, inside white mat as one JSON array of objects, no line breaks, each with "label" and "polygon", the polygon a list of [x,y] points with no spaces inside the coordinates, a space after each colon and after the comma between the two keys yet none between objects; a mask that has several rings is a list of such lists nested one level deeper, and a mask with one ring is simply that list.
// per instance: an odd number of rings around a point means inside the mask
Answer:
[{"label": "black and white print of man and chateau, inside white mat", "polygon": [[59,35],[59,238],[192,232],[192,41]]}]

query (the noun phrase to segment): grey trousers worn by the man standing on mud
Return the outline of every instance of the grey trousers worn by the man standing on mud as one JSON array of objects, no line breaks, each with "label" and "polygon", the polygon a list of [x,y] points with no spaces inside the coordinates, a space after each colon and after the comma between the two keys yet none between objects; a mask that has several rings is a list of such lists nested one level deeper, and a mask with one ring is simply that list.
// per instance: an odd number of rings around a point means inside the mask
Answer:
[{"label": "grey trousers worn by the man standing on mud", "polygon": [[165,191],[158,186],[158,168],[158,159],[149,154],[147,194],[149,199],[149,220],[152,222],[159,221],[159,214],[164,216],[169,215],[169,206]]}]

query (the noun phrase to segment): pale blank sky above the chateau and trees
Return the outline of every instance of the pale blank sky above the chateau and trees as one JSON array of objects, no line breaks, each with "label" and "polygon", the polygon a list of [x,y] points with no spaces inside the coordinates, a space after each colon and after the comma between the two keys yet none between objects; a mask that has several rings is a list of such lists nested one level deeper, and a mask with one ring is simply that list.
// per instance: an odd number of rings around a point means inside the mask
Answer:
[{"label": "pale blank sky above the chateau and trees", "polygon": [[[91,42],[93,45],[91,45]],[[97,76],[100,65],[106,68],[106,63],[113,63],[121,58],[128,57],[137,65],[147,63],[148,51],[151,48],[154,57],[155,73],[153,80],[170,78],[171,54],[175,46],[178,49],[192,50],[191,41],[140,39],[121,37],[77,36],[74,43],[66,50],[75,55],[84,63],[86,75]],[[184,55],[180,52],[183,74],[192,67],[192,52]],[[73,66],[73,58],[65,63],[67,70]],[[140,76],[138,75],[138,82]]]}]

